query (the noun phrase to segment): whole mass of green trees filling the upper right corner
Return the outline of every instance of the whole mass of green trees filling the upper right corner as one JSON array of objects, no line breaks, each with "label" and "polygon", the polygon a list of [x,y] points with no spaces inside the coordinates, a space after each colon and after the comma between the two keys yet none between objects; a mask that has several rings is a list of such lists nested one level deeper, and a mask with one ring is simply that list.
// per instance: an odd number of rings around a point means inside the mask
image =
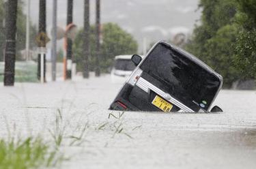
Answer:
[{"label": "whole mass of green trees filling the upper right corner", "polygon": [[223,75],[224,87],[256,78],[256,1],[201,0],[186,50]]}]

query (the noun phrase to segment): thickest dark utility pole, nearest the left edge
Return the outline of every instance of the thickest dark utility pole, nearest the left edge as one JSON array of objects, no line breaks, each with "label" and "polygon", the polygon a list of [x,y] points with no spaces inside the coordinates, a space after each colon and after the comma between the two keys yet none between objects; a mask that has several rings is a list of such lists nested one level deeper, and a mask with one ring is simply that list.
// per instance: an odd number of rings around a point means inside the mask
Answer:
[{"label": "thickest dark utility pole, nearest the left edge", "polygon": [[5,72],[3,83],[5,86],[14,86],[15,55],[16,55],[16,20],[18,0],[8,0],[5,16]]}]

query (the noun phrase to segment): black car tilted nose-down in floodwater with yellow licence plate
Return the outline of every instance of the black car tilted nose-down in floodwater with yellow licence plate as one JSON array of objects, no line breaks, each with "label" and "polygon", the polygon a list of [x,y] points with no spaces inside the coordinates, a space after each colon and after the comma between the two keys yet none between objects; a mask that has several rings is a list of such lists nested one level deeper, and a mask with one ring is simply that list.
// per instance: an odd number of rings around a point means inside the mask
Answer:
[{"label": "black car tilted nose-down in floodwater with yellow licence plate", "polygon": [[[218,95],[223,78],[188,52],[156,43],[137,65],[115,97],[110,110],[208,112]],[[212,112],[221,112],[214,106]]]}]

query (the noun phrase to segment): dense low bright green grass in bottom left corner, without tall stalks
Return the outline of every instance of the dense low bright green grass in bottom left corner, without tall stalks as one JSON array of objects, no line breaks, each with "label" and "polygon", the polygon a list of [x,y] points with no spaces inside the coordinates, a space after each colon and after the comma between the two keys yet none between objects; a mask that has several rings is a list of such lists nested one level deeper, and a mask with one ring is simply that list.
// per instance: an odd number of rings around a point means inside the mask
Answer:
[{"label": "dense low bright green grass in bottom left corner, without tall stalks", "polygon": [[57,166],[63,160],[57,149],[53,149],[40,137],[14,141],[0,140],[0,168],[27,169]]}]

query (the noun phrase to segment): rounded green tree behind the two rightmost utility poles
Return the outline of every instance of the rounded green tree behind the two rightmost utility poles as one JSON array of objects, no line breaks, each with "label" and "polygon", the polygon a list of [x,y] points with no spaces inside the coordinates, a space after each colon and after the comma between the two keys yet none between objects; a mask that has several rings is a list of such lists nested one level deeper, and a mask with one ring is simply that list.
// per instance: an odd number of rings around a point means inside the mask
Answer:
[{"label": "rounded green tree behind the two rightmost utility poles", "polygon": [[[94,26],[90,28],[90,57],[89,70],[94,71],[96,66],[96,36]],[[77,69],[83,71],[83,29],[76,35],[73,44],[74,58]],[[107,72],[113,64],[113,59],[117,55],[132,55],[137,52],[138,44],[126,31],[114,23],[106,23],[102,27],[102,44],[100,67],[102,72]]]}]

